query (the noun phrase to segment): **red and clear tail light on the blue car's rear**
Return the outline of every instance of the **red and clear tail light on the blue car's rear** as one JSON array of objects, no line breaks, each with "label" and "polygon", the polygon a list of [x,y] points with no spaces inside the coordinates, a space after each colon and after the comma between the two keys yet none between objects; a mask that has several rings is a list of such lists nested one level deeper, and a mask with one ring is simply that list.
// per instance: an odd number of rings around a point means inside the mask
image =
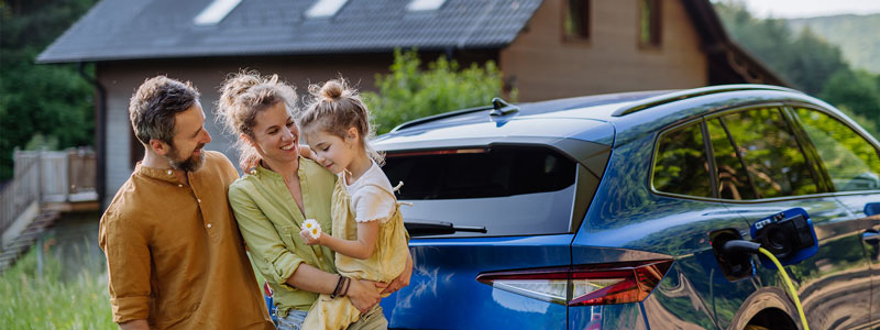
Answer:
[{"label": "red and clear tail light on the blue car's rear", "polygon": [[494,288],[566,306],[645,300],[672,266],[652,260],[483,273],[476,280]]}]

